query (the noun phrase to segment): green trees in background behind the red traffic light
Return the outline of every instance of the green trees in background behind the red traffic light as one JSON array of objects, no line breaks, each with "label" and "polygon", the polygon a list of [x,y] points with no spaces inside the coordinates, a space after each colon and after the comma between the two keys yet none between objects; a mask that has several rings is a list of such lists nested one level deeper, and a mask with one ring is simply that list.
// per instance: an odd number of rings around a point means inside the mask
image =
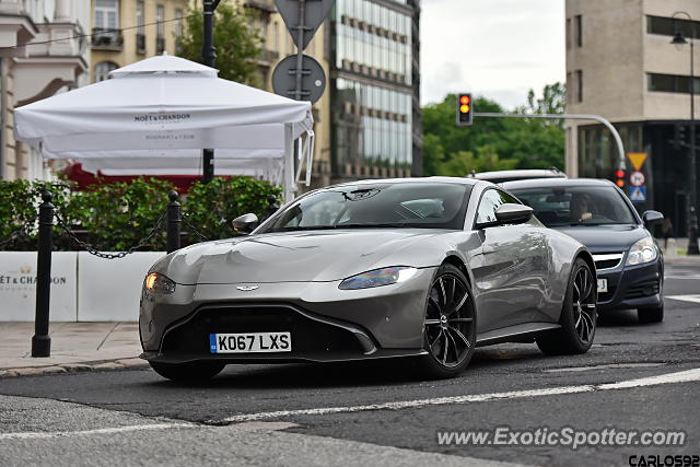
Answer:
[{"label": "green trees in background behind the red traffic light", "polygon": [[[563,170],[564,132],[559,120],[475,117],[470,127],[455,125],[456,96],[450,94],[422,109],[423,173],[465,176],[471,171],[506,168]],[[528,105],[518,113],[562,113],[565,103],[561,83],[545,86],[537,100],[530,91]],[[485,97],[474,101],[476,112],[504,113],[498,103]]]}]

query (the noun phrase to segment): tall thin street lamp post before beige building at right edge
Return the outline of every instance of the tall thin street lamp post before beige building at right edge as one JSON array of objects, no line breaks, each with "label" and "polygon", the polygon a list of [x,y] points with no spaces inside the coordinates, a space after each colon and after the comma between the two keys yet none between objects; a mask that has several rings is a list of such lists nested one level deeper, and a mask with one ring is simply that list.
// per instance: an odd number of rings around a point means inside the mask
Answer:
[{"label": "tall thin street lamp post before beige building at right edge", "polygon": [[[677,27],[676,16],[679,14],[688,16],[688,20],[690,20],[690,40],[686,39]],[[690,196],[688,199],[688,255],[698,255],[700,252],[698,250],[698,182],[696,172],[695,23],[690,14],[685,11],[677,11],[672,17],[674,19],[675,34],[670,43],[677,47],[690,43]]]}]

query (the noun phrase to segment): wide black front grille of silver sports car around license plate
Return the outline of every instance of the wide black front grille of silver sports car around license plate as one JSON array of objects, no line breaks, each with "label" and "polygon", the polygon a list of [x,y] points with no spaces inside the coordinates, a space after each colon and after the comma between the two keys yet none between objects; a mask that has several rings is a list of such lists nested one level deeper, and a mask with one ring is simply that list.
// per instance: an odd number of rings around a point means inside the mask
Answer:
[{"label": "wide black front grille of silver sports car around license plate", "polygon": [[[199,310],[190,319],[175,325],[163,338],[161,351],[202,353],[210,357],[210,334],[289,331],[292,351],[283,357],[310,357],[334,353],[357,353],[363,349],[352,332],[320,323],[285,306],[215,307]],[[221,354],[246,358],[254,354]],[[258,354],[258,357],[261,357]]]}]

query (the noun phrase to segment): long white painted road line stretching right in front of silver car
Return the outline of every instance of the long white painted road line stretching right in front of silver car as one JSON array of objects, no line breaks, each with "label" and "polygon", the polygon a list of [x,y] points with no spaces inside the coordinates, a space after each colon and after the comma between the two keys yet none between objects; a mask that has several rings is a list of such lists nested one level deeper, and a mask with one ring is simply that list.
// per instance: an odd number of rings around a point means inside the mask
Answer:
[{"label": "long white painted road line stretching right in front of silver car", "polygon": [[557,396],[563,394],[592,393],[596,390],[610,389],[628,389],[632,387],[655,386],[660,384],[670,383],[688,383],[696,381],[700,381],[700,369],[599,385],[586,384],[581,386],[561,386],[544,389],[513,390],[508,393],[474,394],[465,396],[438,397],[433,399],[402,400],[397,402],[371,404],[366,406],[323,407],[316,409],[278,410],[273,412],[244,413],[228,417],[218,422],[246,422],[292,416],[324,416],[331,413],[350,413],[371,410],[399,410],[420,408],[425,406],[441,406],[447,404],[486,402],[490,400],[517,399],[525,397]]}]

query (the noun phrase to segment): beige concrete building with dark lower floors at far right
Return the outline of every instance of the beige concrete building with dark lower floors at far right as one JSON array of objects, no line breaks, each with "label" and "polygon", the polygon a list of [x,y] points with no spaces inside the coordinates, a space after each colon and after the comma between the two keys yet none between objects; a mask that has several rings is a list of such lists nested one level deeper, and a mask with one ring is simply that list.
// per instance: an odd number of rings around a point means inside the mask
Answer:
[{"label": "beige concrete building with dark lower floors at far right", "polygon": [[[685,11],[685,14],[675,12]],[[689,189],[690,48],[670,44],[676,31],[695,40],[700,75],[697,0],[567,0],[567,113],[597,114],[620,132],[626,152],[642,153],[640,186],[627,159],[626,190],[640,211],[668,217],[686,235]],[[695,36],[695,37],[693,37]],[[700,105],[700,79],[692,82]],[[696,113],[697,118],[697,113]],[[700,135],[696,127],[696,139]],[[615,141],[600,125],[567,122],[570,176],[614,178]],[[698,151],[700,153],[700,151]],[[697,176],[700,175],[697,174]]]}]

